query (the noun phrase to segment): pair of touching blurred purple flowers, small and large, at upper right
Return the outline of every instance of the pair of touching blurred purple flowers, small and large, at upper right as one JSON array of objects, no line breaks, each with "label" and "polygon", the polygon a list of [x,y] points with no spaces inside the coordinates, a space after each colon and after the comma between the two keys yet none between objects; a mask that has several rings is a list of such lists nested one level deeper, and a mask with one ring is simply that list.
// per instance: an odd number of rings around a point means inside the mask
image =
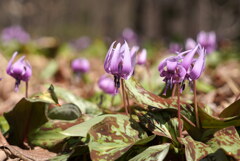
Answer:
[{"label": "pair of touching blurred purple flowers, small and large, at upper right", "polygon": [[199,43],[205,50],[207,54],[210,54],[216,50],[217,39],[215,32],[204,32],[201,31],[197,35],[197,42],[189,38],[186,40],[185,48],[186,50],[193,49],[197,43]]}]

